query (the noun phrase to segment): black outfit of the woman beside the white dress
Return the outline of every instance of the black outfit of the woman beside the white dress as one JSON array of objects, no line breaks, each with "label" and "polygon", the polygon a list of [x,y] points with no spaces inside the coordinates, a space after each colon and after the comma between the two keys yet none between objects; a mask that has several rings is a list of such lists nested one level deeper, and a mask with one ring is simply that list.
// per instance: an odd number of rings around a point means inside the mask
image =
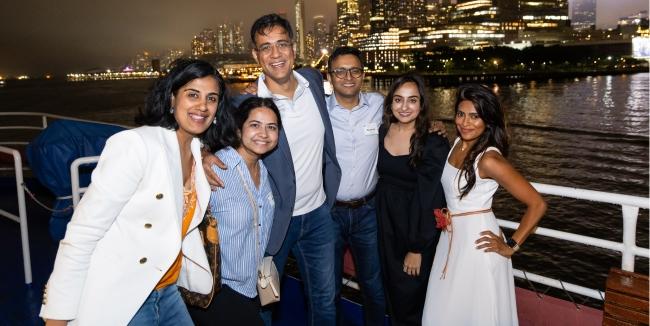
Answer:
[{"label": "black outfit of the woman beside the white dress", "polygon": [[[376,205],[379,221],[379,251],[384,288],[392,324],[420,325],[429,273],[440,231],[433,216],[445,207],[440,183],[449,142],[429,134],[422,159],[416,168],[408,155],[391,155],[384,147],[387,128],[379,130]],[[422,254],[419,276],[404,273],[408,252]]]}]

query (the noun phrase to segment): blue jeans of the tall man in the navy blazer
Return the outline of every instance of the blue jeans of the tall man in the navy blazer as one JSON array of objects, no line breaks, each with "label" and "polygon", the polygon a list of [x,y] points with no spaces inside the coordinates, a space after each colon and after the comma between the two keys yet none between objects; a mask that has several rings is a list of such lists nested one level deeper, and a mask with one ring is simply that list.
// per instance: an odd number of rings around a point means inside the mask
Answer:
[{"label": "blue jeans of the tall man in the navy blazer", "polygon": [[327,204],[291,218],[284,243],[273,257],[280,275],[290,251],[304,282],[307,323],[335,325],[334,223]]}]

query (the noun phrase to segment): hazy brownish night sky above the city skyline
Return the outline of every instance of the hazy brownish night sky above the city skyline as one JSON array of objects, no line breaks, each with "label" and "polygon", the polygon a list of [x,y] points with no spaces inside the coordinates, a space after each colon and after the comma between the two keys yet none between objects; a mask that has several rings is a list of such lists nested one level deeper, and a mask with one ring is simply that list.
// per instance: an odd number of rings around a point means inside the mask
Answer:
[{"label": "hazy brownish night sky above the city skyline", "polygon": [[[597,0],[597,24],[648,9],[647,0]],[[308,30],[314,15],[334,22],[335,0],[305,0]],[[189,49],[203,28],[286,12],[293,0],[0,0],[0,76],[65,74],[119,67],[136,53]]]}]

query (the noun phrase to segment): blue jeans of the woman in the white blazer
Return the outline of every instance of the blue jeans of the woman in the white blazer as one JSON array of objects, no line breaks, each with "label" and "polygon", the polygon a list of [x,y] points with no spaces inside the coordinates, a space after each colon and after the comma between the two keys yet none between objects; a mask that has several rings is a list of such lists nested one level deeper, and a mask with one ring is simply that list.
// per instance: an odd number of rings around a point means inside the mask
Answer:
[{"label": "blue jeans of the woman in the white blazer", "polygon": [[176,285],[153,290],[129,326],[194,325]]}]

